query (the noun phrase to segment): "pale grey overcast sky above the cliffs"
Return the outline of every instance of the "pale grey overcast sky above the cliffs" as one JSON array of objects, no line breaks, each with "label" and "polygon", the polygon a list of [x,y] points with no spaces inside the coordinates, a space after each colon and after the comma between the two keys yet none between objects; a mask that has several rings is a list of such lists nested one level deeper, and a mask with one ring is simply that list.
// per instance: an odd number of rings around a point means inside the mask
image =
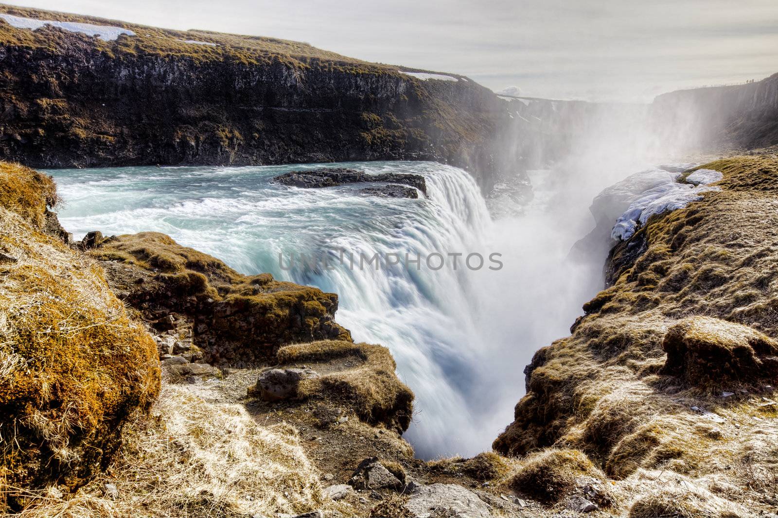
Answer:
[{"label": "pale grey overcast sky above the cliffs", "polygon": [[302,40],[527,96],[650,100],[778,72],[778,0],[5,1]]}]

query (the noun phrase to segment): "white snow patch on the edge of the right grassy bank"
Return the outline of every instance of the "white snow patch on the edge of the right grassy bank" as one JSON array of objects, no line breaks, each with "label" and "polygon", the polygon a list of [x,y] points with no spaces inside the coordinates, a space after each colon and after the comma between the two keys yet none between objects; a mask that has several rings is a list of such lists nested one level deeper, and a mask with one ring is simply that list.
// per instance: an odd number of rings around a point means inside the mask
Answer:
[{"label": "white snow patch on the edge of the right grassy bank", "polygon": [[[626,212],[619,216],[611,232],[612,239],[628,240],[640,225],[646,224],[652,215],[685,208],[692,201],[702,200],[703,192],[720,191],[719,187],[703,184],[679,184],[675,181],[679,173],[665,172],[668,174],[667,180],[644,191],[629,205]],[[657,177],[661,177],[661,174]]]}]

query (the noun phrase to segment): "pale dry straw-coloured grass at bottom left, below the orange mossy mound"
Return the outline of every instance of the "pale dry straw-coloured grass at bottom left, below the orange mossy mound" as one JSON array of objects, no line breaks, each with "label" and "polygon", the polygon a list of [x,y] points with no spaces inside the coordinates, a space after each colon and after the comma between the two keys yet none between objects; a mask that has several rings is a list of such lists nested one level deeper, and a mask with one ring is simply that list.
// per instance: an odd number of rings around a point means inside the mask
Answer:
[{"label": "pale dry straw-coloured grass at bottom left, below the orange mossy mound", "polygon": [[296,429],[258,425],[212,387],[163,383],[152,419],[133,422],[124,443],[107,474],[64,498],[42,492],[19,516],[237,518],[334,506]]}]

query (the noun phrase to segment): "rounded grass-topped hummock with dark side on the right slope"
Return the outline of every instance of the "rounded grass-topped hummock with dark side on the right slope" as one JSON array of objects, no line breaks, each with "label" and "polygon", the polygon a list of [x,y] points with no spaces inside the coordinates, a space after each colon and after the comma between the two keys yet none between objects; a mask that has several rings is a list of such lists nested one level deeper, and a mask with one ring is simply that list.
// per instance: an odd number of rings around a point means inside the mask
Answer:
[{"label": "rounded grass-topped hummock with dark side on the right slope", "polygon": [[778,343],[751,327],[710,317],[685,318],[662,342],[662,373],[690,383],[776,380]]}]

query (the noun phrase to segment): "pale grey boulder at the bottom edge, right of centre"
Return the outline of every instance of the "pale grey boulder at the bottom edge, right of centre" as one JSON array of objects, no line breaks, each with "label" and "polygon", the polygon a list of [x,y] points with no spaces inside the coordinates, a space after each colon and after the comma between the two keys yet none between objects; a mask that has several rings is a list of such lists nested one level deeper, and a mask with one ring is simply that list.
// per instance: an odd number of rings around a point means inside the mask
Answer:
[{"label": "pale grey boulder at the bottom edge, right of centre", "polygon": [[474,492],[456,484],[416,485],[405,503],[411,516],[490,518],[489,506]]}]

